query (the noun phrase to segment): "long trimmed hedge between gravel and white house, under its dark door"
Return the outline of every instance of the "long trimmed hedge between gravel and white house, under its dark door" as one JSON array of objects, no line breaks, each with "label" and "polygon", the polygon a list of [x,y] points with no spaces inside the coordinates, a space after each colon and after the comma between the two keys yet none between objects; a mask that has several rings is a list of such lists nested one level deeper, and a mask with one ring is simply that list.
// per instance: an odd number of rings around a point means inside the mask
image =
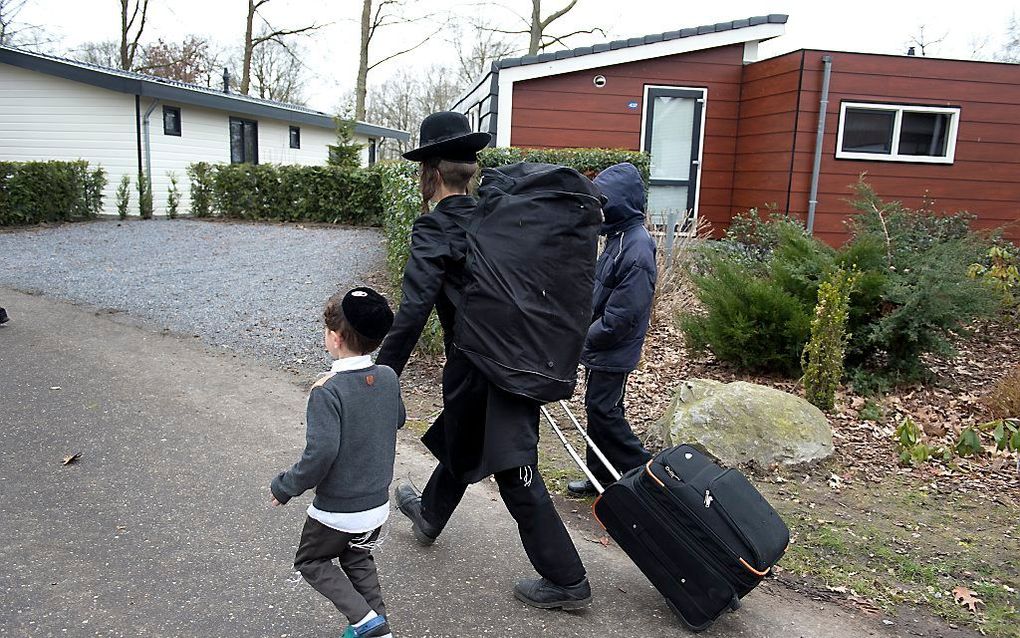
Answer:
[{"label": "long trimmed hedge between gravel and white house, under its dark door", "polygon": [[378,226],[379,174],[369,168],[207,164],[188,168],[192,214]]}]

